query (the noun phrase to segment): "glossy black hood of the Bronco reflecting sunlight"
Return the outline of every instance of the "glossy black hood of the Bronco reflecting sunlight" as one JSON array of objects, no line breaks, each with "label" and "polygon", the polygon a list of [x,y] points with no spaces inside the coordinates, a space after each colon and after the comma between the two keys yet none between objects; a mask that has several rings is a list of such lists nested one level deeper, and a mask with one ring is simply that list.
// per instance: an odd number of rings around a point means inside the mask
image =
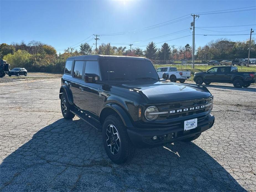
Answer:
[{"label": "glossy black hood of the Bronco reflecting sunlight", "polygon": [[[134,85],[136,83],[136,85]],[[186,85],[165,81],[139,81],[127,82],[120,87],[129,90],[138,90],[146,98],[148,103],[166,103],[175,101],[192,100],[210,97],[211,93],[207,89],[196,85]],[[138,93],[138,94],[139,94]]]}]

